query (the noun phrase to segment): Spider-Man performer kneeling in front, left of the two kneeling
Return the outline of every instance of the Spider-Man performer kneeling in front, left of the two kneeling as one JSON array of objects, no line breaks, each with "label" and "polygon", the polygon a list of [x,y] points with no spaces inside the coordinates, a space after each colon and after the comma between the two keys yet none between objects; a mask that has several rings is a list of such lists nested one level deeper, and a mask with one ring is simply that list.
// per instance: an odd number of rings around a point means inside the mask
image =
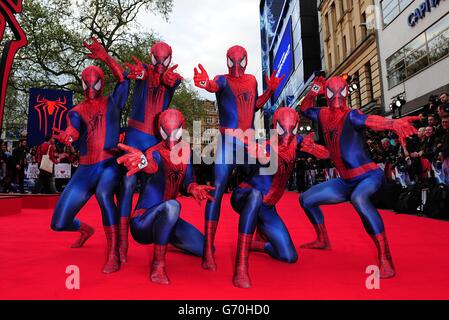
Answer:
[{"label": "Spider-Man performer kneeling in front, left of the two kneeling", "polygon": [[198,229],[180,218],[181,205],[176,200],[185,188],[198,203],[213,198],[213,187],[195,182],[190,164],[190,146],[182,141],[184,117],[181,112],[169,109],[161,113],[158,121],[162,142],[144,153],[139,149],[119,144],[128,152],[117,161],[129,170],[128,176],[143,172],[150,177],[140,194],[130,217],[131,234],[141,244],[154,243],[150,279],[159,284],[169,284],[165,270],[167,245],[202,256],[204,237]]}]

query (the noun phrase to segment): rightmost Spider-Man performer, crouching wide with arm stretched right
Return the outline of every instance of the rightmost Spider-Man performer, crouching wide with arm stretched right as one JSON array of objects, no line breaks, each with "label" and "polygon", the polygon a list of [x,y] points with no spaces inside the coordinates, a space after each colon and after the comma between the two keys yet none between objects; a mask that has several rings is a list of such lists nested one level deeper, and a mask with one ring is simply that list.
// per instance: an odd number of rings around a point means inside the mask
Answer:
[{"label": "rightmost Spider-Man performer, crouching wide with arm stretched right", "polygon": [[[315,107],[318,95],[326,96],[327,107]],[[350,200],[377,247],[380,277],[391,278],[395,275],[395,268],[384,224],[370,200],[383,185],[385,175],[365,150],[363,129],[394,131],[405,145],[406,138],[416,133],[412,123],[418,117],[393,120],[365,115],[359,110],[350,109],[347,98],[348,85],[342,77],[332,77],[327,81],[318,77],[301,103],[302,114],[318,123],[330,158],[340,174],[340,178],[316,185],[300,196],[300,204],[317,234],[316,241],[302,247],[330,249],[320,205]]]}]

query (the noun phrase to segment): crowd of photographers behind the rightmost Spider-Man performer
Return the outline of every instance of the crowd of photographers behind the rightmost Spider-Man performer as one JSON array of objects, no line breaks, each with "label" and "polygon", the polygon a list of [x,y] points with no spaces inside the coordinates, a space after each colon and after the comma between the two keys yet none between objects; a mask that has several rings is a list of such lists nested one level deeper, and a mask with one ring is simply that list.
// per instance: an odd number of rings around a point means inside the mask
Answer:
[{"label": "crowd of photographers behind the rightmost Spider-Man performer", "polygon": [[[400,145],[393,132],[366,131],[366,148],[384,169],[387,180],[410,185],[449,185],[449,95],[431,96],[429,104],[414,123],[418,134]],[[338,176],[329,161],[300,154],[289,189],[300,192]]]}]

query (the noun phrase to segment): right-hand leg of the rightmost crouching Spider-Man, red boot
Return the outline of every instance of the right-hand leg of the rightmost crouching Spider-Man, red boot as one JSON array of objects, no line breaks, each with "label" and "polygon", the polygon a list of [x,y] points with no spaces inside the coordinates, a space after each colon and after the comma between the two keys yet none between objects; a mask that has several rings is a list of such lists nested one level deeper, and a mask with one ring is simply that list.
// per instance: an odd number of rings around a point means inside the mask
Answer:
[{"label": "right-hand leg of the rightmost crouching Spider-Man, red boot", "polygon": [[393,260],[388,246],[385,228],[377,209],[371,203],[371,196],[382,187],[385,178],[382,173],[372,174],[361,181],[351,195],[351,202],[362,219],[363,226],[377,248],[380,277],[391,278],[395,275]]}]

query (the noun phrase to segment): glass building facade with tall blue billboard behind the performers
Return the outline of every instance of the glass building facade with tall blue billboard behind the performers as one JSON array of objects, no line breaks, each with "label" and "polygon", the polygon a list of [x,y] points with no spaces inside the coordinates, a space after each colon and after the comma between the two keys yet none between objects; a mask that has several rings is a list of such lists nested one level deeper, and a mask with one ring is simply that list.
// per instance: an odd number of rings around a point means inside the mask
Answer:
[{"label": "glass building facade with tall blue billboard behind the performers", "polygon": [[310,0],[261,0],[260,19],[263,77],[284,76],[265,106],[268,128],[272,113],[296,106],[307,80],[321,70],[318,9]]}]

